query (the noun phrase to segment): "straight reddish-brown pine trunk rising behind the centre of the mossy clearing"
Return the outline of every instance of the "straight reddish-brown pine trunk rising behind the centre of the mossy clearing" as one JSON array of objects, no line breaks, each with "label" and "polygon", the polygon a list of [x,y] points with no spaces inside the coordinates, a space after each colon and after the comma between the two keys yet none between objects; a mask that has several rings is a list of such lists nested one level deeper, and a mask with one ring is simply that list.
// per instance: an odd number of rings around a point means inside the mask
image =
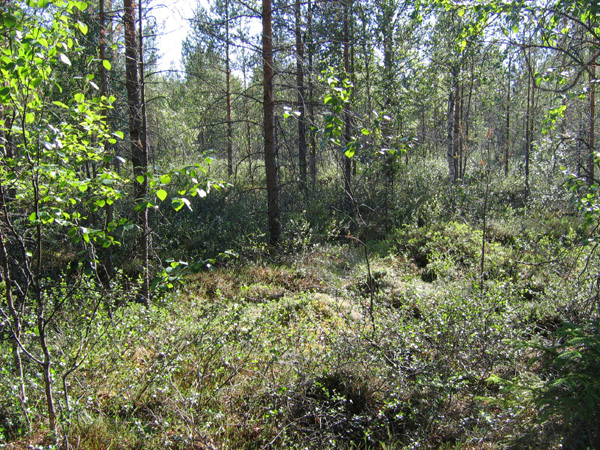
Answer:
[{"label": "straight reddish-brown pine trunk rising behind the centre of the mossy clearing", "polygon": [[263,112],[265,133],[265,171],[267,177],[267,206],[269,243],[276,247],[281,236],[277,165],[275,161],[275,117],[273,95],[273,26],[271,0],[262,0],[263,44]]}]

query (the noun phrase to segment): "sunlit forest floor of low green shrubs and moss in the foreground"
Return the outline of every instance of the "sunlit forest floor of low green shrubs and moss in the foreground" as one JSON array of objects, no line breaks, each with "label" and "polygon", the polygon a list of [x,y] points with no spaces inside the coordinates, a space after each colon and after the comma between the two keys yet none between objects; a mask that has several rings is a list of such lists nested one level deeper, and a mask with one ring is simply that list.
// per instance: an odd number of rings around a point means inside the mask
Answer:
[{"label": "sunlit forest floor of low green shrubs and moss in the foreground", "polygon": [[[68,410],[58,392],[63,444],[584,448],[589,417],[544,397],[565,324],[595,307],[583,287],[597,264],[572,220],[492,221],[485,246],[462,222],[391,236],[257,252],[107,313],[64,378]],[[36,423],[27,439],[5,427],[0,447],[53,448]]]}]

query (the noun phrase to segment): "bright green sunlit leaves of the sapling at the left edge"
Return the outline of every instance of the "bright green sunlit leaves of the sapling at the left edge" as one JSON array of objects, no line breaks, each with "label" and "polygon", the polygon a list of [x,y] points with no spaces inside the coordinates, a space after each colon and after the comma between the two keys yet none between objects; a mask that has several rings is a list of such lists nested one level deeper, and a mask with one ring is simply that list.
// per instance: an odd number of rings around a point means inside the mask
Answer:
[{"label": "bright green sunlit leaves of the sapling at the left edge", "polygon": [[[23,233],[37,227],[48,236],[66,235],[106,247],[116,241],[91,223],[82,226],[91,222],[82,211],[97,213],[123,198],[126,190],[125,180],[103,164],[111,158],[104,143],[123,137],[121,132],[111,134],[104,122],[114,99],[87,95],[87,84],[72,89],[69,97],[54,73],[71,66],[71,57],[79,58],[77,36],[89,30],[73,13],[85,8],[85,2],[30,0],[26,5],[10,2],[0,13],[0,29],[8,40],[0,49],[0,102],[20,124],[11,129],[20,157],[2,159],[0,174],[15,192],[10,206],[35,211],[22,224]],[[91,80],[93,75],[81,78]],[[0,128],[4,126],[0,121]],[[114,225],[124,226],[120,221]]]}]

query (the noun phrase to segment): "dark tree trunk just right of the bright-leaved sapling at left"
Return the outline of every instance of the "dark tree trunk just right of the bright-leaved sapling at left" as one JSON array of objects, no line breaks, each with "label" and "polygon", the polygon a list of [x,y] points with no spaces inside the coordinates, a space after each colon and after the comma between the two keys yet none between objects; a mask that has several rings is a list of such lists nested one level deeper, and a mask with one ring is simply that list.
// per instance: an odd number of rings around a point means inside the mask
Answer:
[{"label": "dark tree trunk just right of the bright-leaved sapling at left", "polygon": [[[127,88],[127,106],[129,109],[129,137],[131,139],[131,162],[134,175],[134,197],[136,203],[144,200],[148,193],[148,153],[143,144],[144,120],[143,106],[140,97],[140,78],[138,74],[138,48],[135,29],[135,7],[133,0],[123,1],[125,28],[125,84]],[[148,302],[148,208],[145,206],[138,212],[139,241],[142,264],[144,265],[144,285],[142,295]]]}]

